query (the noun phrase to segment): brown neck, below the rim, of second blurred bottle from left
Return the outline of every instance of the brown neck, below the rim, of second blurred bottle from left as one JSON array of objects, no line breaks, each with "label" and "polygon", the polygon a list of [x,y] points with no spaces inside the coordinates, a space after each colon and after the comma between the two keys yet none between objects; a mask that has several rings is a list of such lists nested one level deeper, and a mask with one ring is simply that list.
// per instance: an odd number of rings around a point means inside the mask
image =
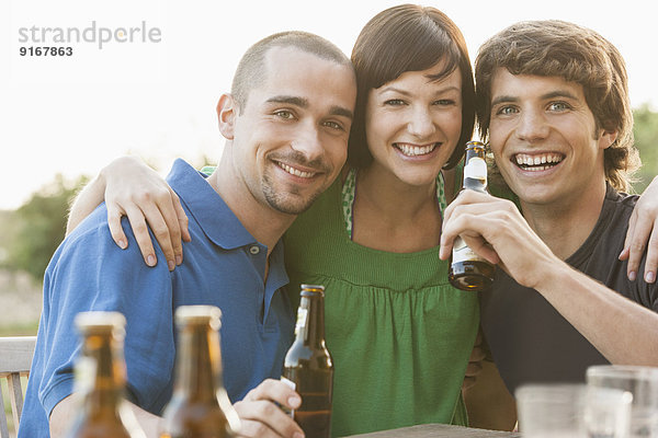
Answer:
[{"label": "brown neck, below the rim, of second blurred bottle from left", "polygon": [[222,387],[219,335],[207,324],[189,324],[179,332],[175,392],[194,401],[216,401]]}]

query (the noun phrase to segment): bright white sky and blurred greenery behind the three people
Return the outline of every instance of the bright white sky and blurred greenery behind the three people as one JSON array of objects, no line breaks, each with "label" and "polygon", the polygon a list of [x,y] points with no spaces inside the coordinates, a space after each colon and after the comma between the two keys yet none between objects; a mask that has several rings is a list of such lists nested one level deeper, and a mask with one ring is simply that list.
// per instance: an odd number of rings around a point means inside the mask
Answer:
[{"label": "bright white sky and blurred greenery behind the three people", "polygon": [[[215,104],[241,54],[284,30],[322,35],[350,54],[361,27],[395,1],[11,0],[0,4],[0,335],[35,334],[44,268],[64,237],[75,191],[110,160],[132,153],[162,175],[182,157],[214,162],[223,140]],[[230,4],[229,4],[230,3]],[[462,28],[472,58],[520,20],[591,27],[625,56],[645,168],[658,173],[658,36],[640,1],[426,1]],[[647,4],[645,2],[645,4]],[[128,27],[161,42],[68,44],[70,58],[18,55],[20,27]],[[67,46],[67,44],[63,44]]]}]

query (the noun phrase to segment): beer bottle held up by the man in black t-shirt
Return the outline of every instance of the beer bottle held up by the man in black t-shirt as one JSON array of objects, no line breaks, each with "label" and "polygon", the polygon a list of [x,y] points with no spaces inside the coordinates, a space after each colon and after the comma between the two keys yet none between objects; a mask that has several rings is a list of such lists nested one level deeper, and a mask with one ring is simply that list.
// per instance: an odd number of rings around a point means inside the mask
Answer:
[{"label": "beer bottle held up by the man in black t-shirt", "polygon": [[[487,192],[485,145],[479,141],[466,143],[463,189]],[[453,243],[447,277],[450,283],[457,289],[480,291],[491,286],[494,273],[494,265],[473,252],[457,235]]]}]

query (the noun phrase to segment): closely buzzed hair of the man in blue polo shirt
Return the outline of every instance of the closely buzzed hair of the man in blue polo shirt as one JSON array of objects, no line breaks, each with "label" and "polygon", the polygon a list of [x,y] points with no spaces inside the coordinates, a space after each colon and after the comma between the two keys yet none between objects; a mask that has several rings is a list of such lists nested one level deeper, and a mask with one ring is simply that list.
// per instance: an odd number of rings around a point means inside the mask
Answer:
[{"label": "closely buzzed hair of the man in blue polo shirt", "polygon": [[245,108],[251,89],[261,85],[265,81],[265,55],[273,47],[294,47],[319,58],[352,67],[345,54],[333,43],[321,36],[300,31],[287,31],[270,35],[252,45],[238,64],[230,89],[238,107]]}]

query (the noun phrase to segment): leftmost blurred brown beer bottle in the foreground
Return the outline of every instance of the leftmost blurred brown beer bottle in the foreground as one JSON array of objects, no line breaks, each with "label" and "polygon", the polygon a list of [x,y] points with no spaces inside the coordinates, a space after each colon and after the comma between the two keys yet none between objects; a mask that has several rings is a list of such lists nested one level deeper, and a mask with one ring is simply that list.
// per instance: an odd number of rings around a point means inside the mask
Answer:
[{"label": "leftmost blurred brown beer bottle in the foreground", "polygon": [[75,392],[82,405],[68,438],[145,438],[124,400],[126,320],[118,312],[81,312],[75,324],[82,336],[76,361]]}]

